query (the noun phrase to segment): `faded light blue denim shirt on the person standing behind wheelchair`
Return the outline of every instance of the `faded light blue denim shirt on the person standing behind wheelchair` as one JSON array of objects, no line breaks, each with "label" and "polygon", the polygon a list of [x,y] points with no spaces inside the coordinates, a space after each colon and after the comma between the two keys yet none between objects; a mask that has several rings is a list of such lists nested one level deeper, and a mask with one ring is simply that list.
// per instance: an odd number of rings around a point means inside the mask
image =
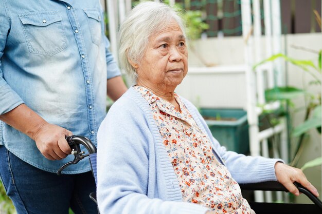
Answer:
[{"label": "faded light blue denim shirt on the person standing behind wheelchair", "polygon": [[[0,0],[0,114],[25,103],[96,144],[106,80],[120,75],[109,46],[99,0]],[[33,140],[3,122],[0,145],[49,172],[74,159],[46,159]],[[88,170],[83,160],[63,173]]]}]

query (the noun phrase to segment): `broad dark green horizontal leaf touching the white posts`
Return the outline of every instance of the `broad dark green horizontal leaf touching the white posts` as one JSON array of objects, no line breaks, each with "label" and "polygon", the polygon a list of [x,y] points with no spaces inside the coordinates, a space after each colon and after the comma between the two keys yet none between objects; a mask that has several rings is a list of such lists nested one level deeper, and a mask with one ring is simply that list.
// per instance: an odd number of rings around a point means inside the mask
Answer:
[{"label": "broad dark green horizontal leaf touching the white posts", "polygon": [[265,91],[267,101],[291,100],[305,94],[306,91],[295,87],[276,87]]}]

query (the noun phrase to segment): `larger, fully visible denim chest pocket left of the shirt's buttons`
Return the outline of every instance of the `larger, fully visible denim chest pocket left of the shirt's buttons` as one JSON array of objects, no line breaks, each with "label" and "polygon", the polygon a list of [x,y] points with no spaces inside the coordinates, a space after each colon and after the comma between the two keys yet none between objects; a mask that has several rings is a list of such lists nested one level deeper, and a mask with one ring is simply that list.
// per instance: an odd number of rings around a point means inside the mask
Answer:
[{"label": "larger, fully visible denim chest pocket left of the shirt's buttons", "polygon": [[57,12],[19,15],[30,53],[55,55],[67,47],[62,18]]}]

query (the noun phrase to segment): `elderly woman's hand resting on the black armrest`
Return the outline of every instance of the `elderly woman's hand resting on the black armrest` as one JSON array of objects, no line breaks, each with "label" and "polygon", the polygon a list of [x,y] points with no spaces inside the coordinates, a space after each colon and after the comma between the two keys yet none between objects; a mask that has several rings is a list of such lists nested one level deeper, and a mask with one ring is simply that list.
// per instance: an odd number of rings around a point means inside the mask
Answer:
[{"label": "elderly woman's hand resting on the black armrest", "polygon": [[293,182],[300,183],[303,187],[312,192],[314,196],[318,197],[319,194],[316,188],[307,180],[302,170],[277,162],[275,164],[275,174],[277,181],[283,184],[283,186],[295,194],[295,196],[299,196],[299,191]]}]

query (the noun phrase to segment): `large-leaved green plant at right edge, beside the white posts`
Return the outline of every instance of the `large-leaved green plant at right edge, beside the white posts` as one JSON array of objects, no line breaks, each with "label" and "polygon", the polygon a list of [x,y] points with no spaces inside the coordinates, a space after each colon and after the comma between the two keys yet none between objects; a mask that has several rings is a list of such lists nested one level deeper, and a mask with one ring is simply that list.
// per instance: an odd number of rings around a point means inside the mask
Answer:
[{"label": "large-leaved green plant at right edge, beside the white posts", "polygon": [[[314,81],[311,81],[309,85],[319,85],[321,86],[321,53],[320,50],[317,54],[317,65],[315,65],[312,61],[309,60],[295,60],[287,55],[282,53],[275,54],[271,56],[269,59],[266,59],[258,64],[256,64],[253,68],[255,69],[259,65],[262,65],[267,62],[275,61],[276,59],[284,59],[285,61],[292,63],[293,65],[301,68],[303,71],[309,73]],[[292,128],[292,137],[298,138],[297,149],[293,158],[291,165],[295,166],[303,149],[303,141],[305,135],[309,130],[316,128],[319,133],[321,133],[321,93],[310,93],[307,90],[299,89],[296,87],[285,86],[285,87],[275,87],[265,91],[265,98],[267,102],[270,101],[281,101],[284,104],[287,104],[291,107],[294,107],[292,102],[293,99],[298,98],[299,96],[305,96],[307,105],[305,106],[305,120],[300,125]],[[308,167],[313,167],[320,165],[322,163],[321,158],[314,159],[303,166],[302,169],[306,169]]]}]

